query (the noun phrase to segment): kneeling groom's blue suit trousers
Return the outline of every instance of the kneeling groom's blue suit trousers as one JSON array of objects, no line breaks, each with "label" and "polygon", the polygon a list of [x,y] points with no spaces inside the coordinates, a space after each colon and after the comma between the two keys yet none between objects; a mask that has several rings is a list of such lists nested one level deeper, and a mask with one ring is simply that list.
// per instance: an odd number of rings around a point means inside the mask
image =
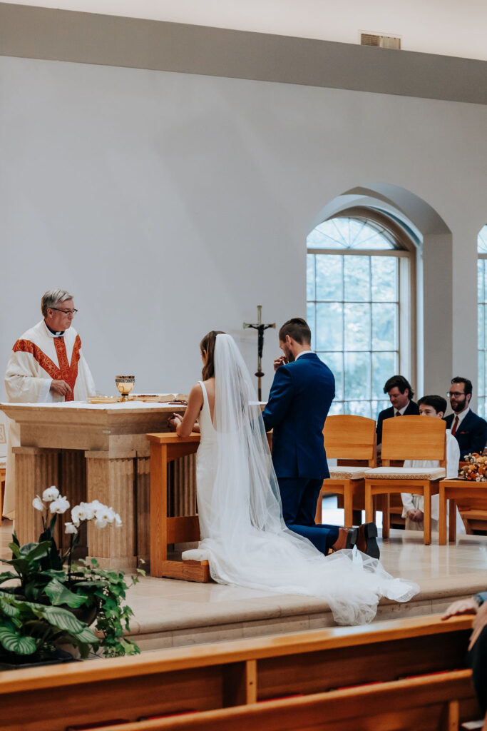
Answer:
[{"label": "kneeling groom's blue suit trousers", "polygon": [[326,556],[338,538],[339,528],[315,523],[316,505],[323,480],[277,477],[277,482],[286,526],[310,540]]}]

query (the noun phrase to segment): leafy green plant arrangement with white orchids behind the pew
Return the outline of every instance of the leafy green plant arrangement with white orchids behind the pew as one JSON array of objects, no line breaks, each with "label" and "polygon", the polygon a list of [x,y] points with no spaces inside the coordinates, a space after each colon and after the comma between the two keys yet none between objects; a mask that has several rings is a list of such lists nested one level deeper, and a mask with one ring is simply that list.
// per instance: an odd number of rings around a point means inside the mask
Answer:
[{"label": "leafy green plant arrangement with white orchids behind the pew", "polygon": [[[139,648],[123,630],[133,615],[124,603],[126,591],[139,576],[128,585],[122,571],[101,569],[94,558],[73,563],[80,523],[93,520],[99,529],[116,529],[122,524],[118,513],[97,500],[74,506],[71,522],[65,523],[69,547],[63,552],[54,529],[69,501],[52,486],[33,506],[42,512],[39,541],[21,546],[14,534],[12,558],[2,561],[9,570],[0,573],[0,664],[59,662],[66,656],[61,645],[71,645],[82,658],[98,651],[105,657],[137,654]],[[88,626],[93,621],[96,634]]]}]

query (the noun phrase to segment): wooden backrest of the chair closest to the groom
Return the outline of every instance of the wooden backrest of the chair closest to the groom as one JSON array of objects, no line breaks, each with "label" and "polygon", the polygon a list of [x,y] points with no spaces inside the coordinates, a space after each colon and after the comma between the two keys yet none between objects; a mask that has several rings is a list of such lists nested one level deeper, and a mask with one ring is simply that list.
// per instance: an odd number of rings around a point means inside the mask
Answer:
[{"label": "wooden backrest of the chair closest to the groom", "polygon": [[350,414],[326,417],[323,441],[329,458],[366,460],[369,467],[377,464],[377,436],[373,419]]}]

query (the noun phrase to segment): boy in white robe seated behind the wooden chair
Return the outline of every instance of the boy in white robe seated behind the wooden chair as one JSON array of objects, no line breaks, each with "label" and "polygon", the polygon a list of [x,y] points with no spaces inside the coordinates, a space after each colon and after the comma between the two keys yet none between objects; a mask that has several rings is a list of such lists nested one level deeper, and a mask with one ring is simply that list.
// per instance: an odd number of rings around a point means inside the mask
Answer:
[{"label": "boy in white robe seated behind the wooden chair", "polygon": [[[419,413],[421,416],[432,416],[436,419],[442,419],[446,409],[446,399],[442,396],[423,396],[418,401]],[[460,450],[458,442],[452,436],[449,429],[446,430],[446,476],[448,479],[454,479],[459,474]],[[406,460],[404,467],[426,467],[432,469],[439,467],[437,460]],[[424,499],[422,495],[411,495],[410,493],[401,493],[402,498],[402,517],[406,518],[407,531],[422,531]],[[432,496],[432,531],[438,530],[438,522],[440,520],[440,496]],[[456,509],[456,532],[464,533],[464,521],[461,520],[459,509]]]}]

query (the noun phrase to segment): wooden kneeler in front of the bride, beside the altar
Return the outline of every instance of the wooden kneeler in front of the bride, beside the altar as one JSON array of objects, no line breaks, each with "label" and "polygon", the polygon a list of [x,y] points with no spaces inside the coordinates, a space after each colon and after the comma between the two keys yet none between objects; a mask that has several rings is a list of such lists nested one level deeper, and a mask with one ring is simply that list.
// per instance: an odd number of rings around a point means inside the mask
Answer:
[{"label": "wooden kneeler in front of the bride, beside the altar", "polygon": [[208,561],[168,561],[167,545],[199,541],[197,515],[167,515],[167,465],[175,459],[194,454],[199,433],[187,437],[174,432],[146,434],[150,442],[150,575],[210,581]]}]

